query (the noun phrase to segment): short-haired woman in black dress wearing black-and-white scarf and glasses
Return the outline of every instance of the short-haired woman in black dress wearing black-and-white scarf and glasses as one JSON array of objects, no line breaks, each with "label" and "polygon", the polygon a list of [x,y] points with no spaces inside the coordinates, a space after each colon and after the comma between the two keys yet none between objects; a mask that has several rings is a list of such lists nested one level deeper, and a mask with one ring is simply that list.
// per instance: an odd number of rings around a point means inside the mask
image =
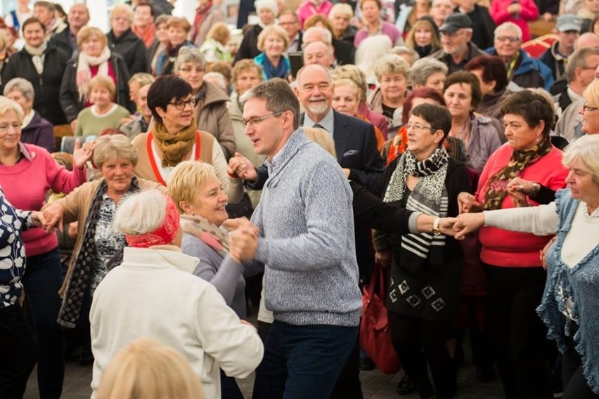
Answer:
[{"label": "short-haired woman in black dress wearing black-and-white scarf and glasses", "polygon": [[[408,119],[406,152],[387,168],[382,197],[398,207],[442,218],[458,214],[457,197],[469,190],[465,166],[454,162],[443,147],[451,129],[445,107],[421,104]],[[437,222],[438,223],[438,222]],[[460,245],[433,228],[431,234],[377,237],[375,249],[391,263],[387,308],[392,343],[406,374],[421,398],[433,388],[439,398],[456,391],[456,369],[446,347],[449,321],[458,301],[463,254]]]}]

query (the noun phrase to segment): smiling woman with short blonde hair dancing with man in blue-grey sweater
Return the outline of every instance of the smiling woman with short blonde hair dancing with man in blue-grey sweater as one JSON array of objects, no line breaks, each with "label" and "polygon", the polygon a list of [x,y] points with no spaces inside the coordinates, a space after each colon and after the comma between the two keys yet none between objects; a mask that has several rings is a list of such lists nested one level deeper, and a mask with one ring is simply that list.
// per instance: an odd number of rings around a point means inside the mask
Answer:
[{"label": "smiling woman with short blonde hair dancing with man in blue-grey sweater", "polygon": [[[181,216],[183,254],[195,256],[200,263],[193,274],[209,281],[223,296],[239,318],[245,318],[245,277],[250,277],[247,264],[236,257],[229,235],[222,225],[227,220],[227,196],[214,174],[214,168],[202,162],[184,161],[169,178],[169,196]],[[246,235],[247,244],[257,245],[257,235]],[[260,265],[262,266],[262,265]],[[260,267],[257,272],[262,271]],[[243,395],[235,379],[221,372],[222,398]]]}]

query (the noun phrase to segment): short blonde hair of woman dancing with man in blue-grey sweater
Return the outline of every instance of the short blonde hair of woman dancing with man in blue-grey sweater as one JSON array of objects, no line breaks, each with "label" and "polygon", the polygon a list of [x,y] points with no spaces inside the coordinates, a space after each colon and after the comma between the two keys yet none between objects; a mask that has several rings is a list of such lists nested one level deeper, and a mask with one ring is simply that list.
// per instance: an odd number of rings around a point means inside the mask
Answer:
[{"label": "short blonde hair of woman dancing with man in blue-grey sweater", "polygon": [[198,161],[183,161],[173,169],[167,188],[169,197],[176,204],[179,213],[184,214],[185,211],[181,208],[181,202],[185,201],[188,204],[195,202],[195,190],[204,185],[208,178],[216,177],[214,166],[205,162]]}]

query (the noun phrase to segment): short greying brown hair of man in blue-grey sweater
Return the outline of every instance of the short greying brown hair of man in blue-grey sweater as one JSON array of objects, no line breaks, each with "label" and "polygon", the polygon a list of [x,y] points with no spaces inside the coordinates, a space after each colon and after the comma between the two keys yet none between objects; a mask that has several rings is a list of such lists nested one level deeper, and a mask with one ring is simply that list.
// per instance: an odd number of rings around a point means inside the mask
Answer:
[{"label": "short greying brown hair of man in blue-grey sweater", "polygon": [[[297,75],[299,80],[299,72]],[[245,103],[252,98],[266,100],[266,109],[270,112],[283,113],[291,111],[293,114],[293,130],[299,128],[299,100],[297,100],[297,96],[295,96],[287,81],[280,78],[264,81],[243,93],[240,100]]]}]

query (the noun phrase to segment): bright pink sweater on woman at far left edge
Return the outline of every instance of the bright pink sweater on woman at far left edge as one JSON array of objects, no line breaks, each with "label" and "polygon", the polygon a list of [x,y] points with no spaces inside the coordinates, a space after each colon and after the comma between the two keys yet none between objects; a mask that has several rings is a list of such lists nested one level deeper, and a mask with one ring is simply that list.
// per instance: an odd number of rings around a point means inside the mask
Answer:
[{"label": "bright pink sweater on woman at far left edge", "polygon": [[[87,180],[86,170],[67,171],[56,163],[50,153],[33,144],[20,143],[22,159],[13,166],[0,165],[0,186],[13,207],[39,211],[46,201],[46,192],[71,192]],[[26,230],[23,235],[27,256],[44,254],[58,247],[56,233],[42,228]]]}]

